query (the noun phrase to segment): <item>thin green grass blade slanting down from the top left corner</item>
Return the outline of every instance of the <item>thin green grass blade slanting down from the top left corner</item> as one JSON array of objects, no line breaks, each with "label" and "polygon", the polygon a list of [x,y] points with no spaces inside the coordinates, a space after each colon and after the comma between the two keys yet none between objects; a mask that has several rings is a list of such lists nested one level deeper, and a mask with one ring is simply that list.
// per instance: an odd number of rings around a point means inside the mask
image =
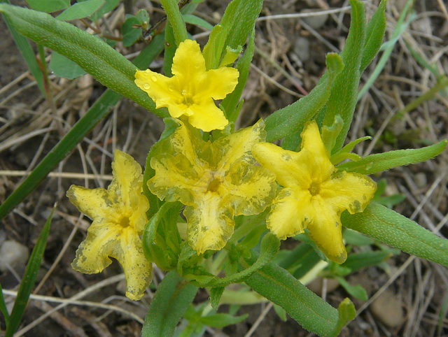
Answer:
[{"label": "thin green grass blade slanting down from the top left corner", "polygon": [[[9,0],[0,0],[0,3],[9,3]],[[43,74],[41,68],[37,64],[33,48],[31,48],[31,45],[29,44],[27,38],[20,35],[18,31],[15,30],[9,18],[6,17],[6,15],[3,15],[3,17],[5,19],[6,26],[8,26],[8,29],[14,38],[15,44],[18,46],[20,52],[22,53],[25,62],[27,62],[29,71],[31,71],[34,78],[36,79],[37,86],[41,90],[41,93],[43,94],[43,96],[45,96],[45,87],[43,86]]]}]

